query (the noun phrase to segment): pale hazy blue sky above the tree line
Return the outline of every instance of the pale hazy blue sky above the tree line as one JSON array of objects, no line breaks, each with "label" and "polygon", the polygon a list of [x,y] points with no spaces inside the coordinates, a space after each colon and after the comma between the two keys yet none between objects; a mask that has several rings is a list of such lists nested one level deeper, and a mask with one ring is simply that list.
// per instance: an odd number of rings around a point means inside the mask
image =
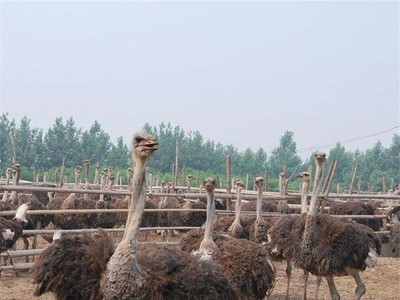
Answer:
[{"label": "pale hazy blue sky above the tree line", "polygon": [[400,123],[399,14],[397,1],[1,1],[0,110],[45,130],[97,120],[125,141],[171,122],[267,152],[285,130],[298,149],[367,136]]}]

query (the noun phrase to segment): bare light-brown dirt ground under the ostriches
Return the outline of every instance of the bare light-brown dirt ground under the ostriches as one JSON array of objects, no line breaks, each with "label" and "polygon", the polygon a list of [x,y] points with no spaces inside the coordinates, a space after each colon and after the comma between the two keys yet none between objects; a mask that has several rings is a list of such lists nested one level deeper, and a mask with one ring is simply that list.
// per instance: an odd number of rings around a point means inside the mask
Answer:
[{"label": "bare light-brown dirt ground under the ostriches", "polygon": [[[151,234],[151,240],[159,239]],[[177,238],[173,238],[176,240]],[[39,243],[45,247],[46,243]],[[20,249],[20,248],[19,248]],[[269,299],[283,300],[286,293],[286,275],[285,263],[275,263],[277,268],[277,281],[274,291]],[[292,280],[290,285],[290,299],[302,299],[302,275],[303,272],[294,268],[292,272]],[[363,300],[399,300],[400,288],[400,259],[399,258],[379,258],[376,266],[367,269],[361,274],[361,278],[367,288],[367,292],[362,298]],[[316,277],[310,276],[308,295],[310,299],[314,297]],[[352,299],[356,285],[350,277],[338,277],[335,279],[336,286],[341,299]],[[22,272],[16,277],[12,271],[3,271],[0,278],[0,299],[1,300],[33,300],[55,299],[52,295],[46,294],[41,297],[33,297],[34,286],[30,282],[29,273]],[[328,286],[324,280],[321,284],[319,299],[330,299]]]}]

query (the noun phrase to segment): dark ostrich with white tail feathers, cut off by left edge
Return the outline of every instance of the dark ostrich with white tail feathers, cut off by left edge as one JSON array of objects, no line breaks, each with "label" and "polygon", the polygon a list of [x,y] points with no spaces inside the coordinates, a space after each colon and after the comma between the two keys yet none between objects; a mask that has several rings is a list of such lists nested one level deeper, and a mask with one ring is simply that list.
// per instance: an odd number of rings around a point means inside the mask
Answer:
[{"label": "dark ostrich with white tail feathers, cut off by left edge", "polygon": [[0,253],[10,250],[22,236],[22,230],[28,220],[26,219],[27,204],[18,207],[12,220],[0,217]]}]

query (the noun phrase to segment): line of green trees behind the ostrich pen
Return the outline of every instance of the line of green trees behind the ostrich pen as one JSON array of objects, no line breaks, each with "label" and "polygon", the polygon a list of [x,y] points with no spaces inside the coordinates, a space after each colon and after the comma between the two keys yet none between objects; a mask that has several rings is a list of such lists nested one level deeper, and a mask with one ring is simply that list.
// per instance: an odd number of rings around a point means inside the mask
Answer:
[{"label": "line of green trees behind the ostrich pen", "polygon": [[[113,143],[111,136],[101,125],[94,121],[89,129],[78,128],[72,117],[63,120],[56,118],[54,124],[47,130],[32,128],[30,119],[24,117],[19,124],[10,119],[7,113],[0,117],[0,170],[1,174],[15,160],[23,166],[22,179],[32,180],[33,173],[49,171],[50,176],[55,168],[64,161],[66,175],[72,180],[73,167],[84,159],[92,164],[99,162],[101,166],[113,166],[124,174],[131,165],[129,147],[122,136]],[[210,139],[205,139],[199,131],[185,131],[180,126],[164,123],[154,126],[145,124],[143,129],[157,136],[159,151],[149,161],[154,174],[166,180],[172,180],[172,166],[175,163],[176,143],[179,145],[179,171],[185,168],[186,174],[202,176],[218,176],[225,179],[226,156],[231,157],[233,177],[250,178],[269,175],[271,189],[278,186],[278,175],[286,167],[287,177],[306,171],[314,164],[312,154],[302,161],[297,153],[294,133],[285,131],[275,147],[268,155],[263,148],[253,151],[247,148],[239,151],[234,145],[223,145]],[[334,175],[334,184],[340,183],[349,189],[354,165],[358,162],[358,172],[355,184],[360,184],[363,190],[382,191],[382,172],[387,189],[397,188],[400,181],[400,136],[394,134],[392,143],[385,148],[381,142],[376,142],[366,151],[347,151],[344,145],[337,143],[326,151],[329,166],[333,159],[338,160]],[[92,168],[92,173],[94,170]],[[327,173],[327,172],[325,172]],[[181,184],[184,184],[181,178]],[[292,177],[289,187],[297,189],[299,183]],[[250,184],[250,188],[252,184]]]}]

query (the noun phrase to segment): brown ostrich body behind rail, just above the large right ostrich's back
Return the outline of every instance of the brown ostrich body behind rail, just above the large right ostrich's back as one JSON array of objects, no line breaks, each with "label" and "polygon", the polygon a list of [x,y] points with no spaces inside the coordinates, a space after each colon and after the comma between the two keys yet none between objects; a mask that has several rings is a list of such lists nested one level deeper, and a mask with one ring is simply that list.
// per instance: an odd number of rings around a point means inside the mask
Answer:
[{"label": "brown ostrich body behind rail, just above the large right ostrich's back", "polygon": [[[331,215],[376,215],[377,211],[370,203],[364,202],[341,202],[331,205],[328,211]],[[355,219],[357,223],[364,224],[374,231],[379,231],[383,226],[383,221],[377,219]]]}]

